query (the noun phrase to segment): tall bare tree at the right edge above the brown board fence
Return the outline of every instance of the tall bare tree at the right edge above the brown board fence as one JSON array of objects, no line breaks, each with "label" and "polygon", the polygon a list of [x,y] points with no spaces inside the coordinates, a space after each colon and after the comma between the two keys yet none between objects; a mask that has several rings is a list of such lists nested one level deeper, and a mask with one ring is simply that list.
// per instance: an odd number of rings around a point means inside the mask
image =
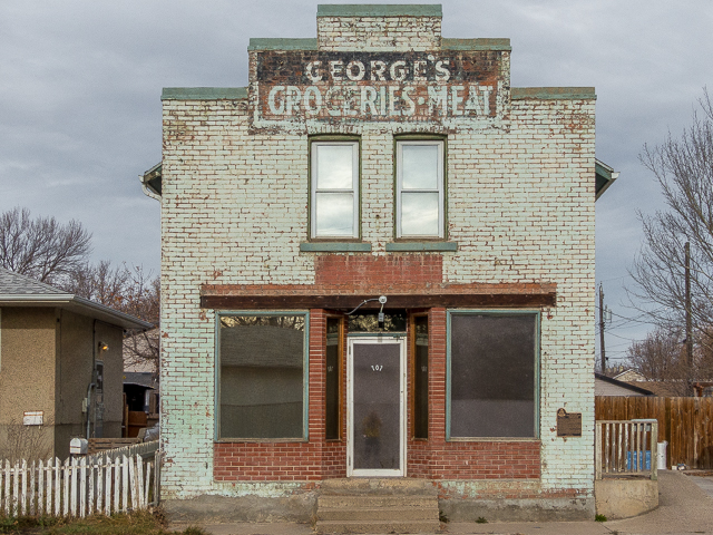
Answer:
[{"label": "tall bare tree at the right edge above the brown board fence", "polygon": [[685,243],[691,243],[691,318],[694,352],[710,351],[713,327],[713,106],[707,91],[680,138],[645,146],[642,163],[654,174],[667,208],[639,217],[644,243],[629,273],[629,293],[660,328],[685,324]]}]

